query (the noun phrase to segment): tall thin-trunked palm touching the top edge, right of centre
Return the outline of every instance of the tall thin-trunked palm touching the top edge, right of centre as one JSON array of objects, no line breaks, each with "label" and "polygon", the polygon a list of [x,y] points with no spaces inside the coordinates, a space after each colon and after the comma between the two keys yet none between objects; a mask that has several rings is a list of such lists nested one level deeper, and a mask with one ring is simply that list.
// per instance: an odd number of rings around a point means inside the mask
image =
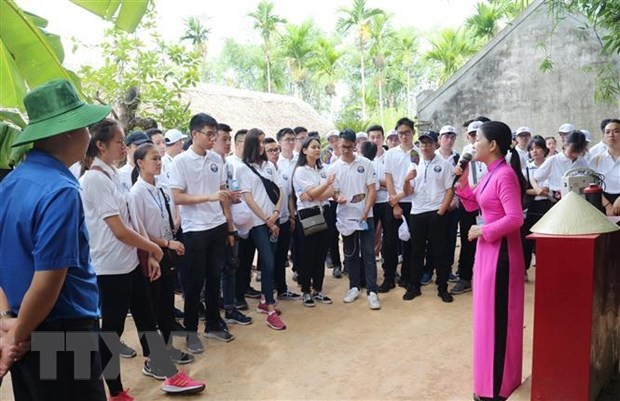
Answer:
[{"label": "tall thin-trunked palm touching the top edge, right of centre", "polygon": [[366,8],[366,0],[353,0],[351,8],[340,8],[342,15],[338,19],[337,29],[344,35],[351,29],[355,29],[357,47],[360,51],[360,75],[362,78],[362,119],[366,119],[366,74],[364,71],[364,48],[368,42],[370,19],[383,10],[378,8]]}]

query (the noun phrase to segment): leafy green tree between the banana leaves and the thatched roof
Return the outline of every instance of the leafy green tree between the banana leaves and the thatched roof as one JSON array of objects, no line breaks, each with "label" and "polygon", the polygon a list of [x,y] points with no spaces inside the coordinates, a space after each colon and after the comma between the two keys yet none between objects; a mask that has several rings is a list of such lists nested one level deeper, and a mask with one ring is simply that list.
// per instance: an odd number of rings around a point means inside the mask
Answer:
[{"label": "leafy green tree between the banana leaves and the thatched roof", "polygon": [[[136,113],[154,118],[163,127],[187,123],[190,115],[182,94],[199,81],[198,50],[162,41],[152,12],[136,34],[107,30],[100,47],[103,66],[80,70],[85,93],[112,105],[127,129],[133,128]],[[137,98],[128,98],[135,90]]]}]

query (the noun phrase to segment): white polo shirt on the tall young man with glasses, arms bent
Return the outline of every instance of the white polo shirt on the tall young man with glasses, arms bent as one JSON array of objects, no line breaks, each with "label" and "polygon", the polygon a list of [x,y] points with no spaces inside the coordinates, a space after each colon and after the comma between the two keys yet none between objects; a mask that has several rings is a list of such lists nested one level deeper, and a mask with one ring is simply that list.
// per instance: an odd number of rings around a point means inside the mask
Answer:
[{"label": "white polo shirt on the tall young man with glasses, arms bent", "polygon": [[[188,195],[211,195],[226,185],[222,158],[212,151],[204,156],[190,147],[174,158],[170,165],[171,189],[180,189]],[[184,232],[206,231],[226,222],[218,201],[194,205],[180,205],[181,226]]]}]

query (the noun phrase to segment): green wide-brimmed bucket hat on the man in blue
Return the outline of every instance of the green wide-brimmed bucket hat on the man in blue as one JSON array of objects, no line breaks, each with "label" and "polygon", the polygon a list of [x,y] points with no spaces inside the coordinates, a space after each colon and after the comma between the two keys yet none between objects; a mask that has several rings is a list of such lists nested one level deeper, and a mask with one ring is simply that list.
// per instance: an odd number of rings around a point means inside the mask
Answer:
[{"label": "green wide-brimmed bucket hat on the man in blue", "polygon": [[13,143],[24,145],[88,127],[110,114],[110,106],[84,103],[73,85],[65,79],[49,81],[24,97],[28,125]]}]

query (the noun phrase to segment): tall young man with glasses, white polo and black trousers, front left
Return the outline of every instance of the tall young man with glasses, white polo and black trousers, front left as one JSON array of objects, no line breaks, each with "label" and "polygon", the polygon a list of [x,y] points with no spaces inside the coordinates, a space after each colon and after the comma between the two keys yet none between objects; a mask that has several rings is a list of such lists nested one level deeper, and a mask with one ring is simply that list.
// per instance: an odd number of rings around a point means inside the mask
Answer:
[{"label": "tall young man with glasses, white polo and black trousers, front left", "polygon": [[170,188],[174,202],[180,205],[186,245],[187,287],[185,328],[187,349],[204,351],[198,338],[200,293],[205,287],[205,336],[230,341],[219,313],[220,275],[226,262],[226,245],[234,245],[234,225],[226,190],[224,163],[211,149],[217,136],[217,121],[199,113],[190,120],[192,145],[177,156],[170,168]]}]

